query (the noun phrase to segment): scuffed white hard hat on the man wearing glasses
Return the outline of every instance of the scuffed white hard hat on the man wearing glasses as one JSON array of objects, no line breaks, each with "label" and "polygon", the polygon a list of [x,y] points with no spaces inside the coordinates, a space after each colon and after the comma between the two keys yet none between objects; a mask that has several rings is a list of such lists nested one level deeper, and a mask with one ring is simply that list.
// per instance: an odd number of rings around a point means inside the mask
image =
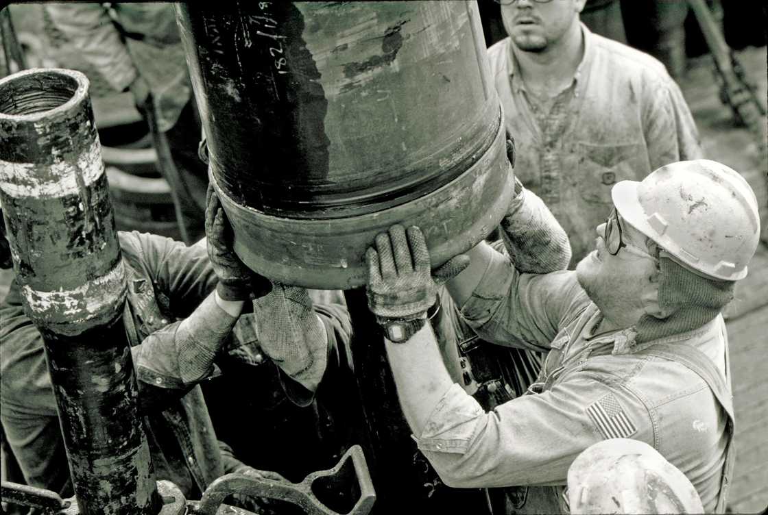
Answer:
[{"label": "scuffed white hard hat on the man wearing glasses", "polygon": [[743,279],[760,239],[757,199],[735,170],[706,159],[660,167],[611,190],[621,217],[680,264],[705,276]]}]

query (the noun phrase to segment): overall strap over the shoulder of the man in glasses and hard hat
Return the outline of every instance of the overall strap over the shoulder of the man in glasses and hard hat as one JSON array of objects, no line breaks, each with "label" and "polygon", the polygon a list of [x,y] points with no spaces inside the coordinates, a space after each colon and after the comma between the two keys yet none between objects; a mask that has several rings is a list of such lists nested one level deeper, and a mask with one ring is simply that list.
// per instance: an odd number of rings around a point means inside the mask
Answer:
[{"label": "overall strap over the shoulder of the man in glasses and hard hat", "polygon": [[[728,421],[726,423],[728,443],[726,445],[725,463],[723,464],[723,477],[720,480],[720,495],[717,498],[717,507],[715,508],[717,513],[724,513],[728,500],[730,479],[733,477],[734,458],[736,457],[733,446],[733,434],[735,431],[733,419],[733,395],[730,388],[728,388],[726,382],[723,381],[723,377],[718,373],[712,360],[699,349],[691,347],[690,345],[680,343],[659,343],[646,348],[644,351],[639,352],[639,354],[652,355],[670,361],[677,361],[680,365],[684,365],[691,371],[696,372],[700,378],[707,382],[707,385],[715,395],[715,398],[717,398],[720,406],[723,407],[723,410],[728,415]],[[727,378],[730,378],[727,344],[725,347],[725,370]]]}]

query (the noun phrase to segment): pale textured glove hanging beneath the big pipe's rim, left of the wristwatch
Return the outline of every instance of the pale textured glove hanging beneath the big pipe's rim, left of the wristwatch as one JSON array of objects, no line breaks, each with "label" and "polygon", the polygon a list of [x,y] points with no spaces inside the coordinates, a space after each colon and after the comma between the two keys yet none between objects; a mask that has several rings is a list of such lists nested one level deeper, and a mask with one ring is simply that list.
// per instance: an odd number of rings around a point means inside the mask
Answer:
[{"label": "pale textured glove hanging beneath the big pipe's rim, left of the wristwatch", "polygon": [[328,335],[306,288],[273,282],[269,295],[253,301],[253,316],[264,354],[316,391],[328,364]]}]

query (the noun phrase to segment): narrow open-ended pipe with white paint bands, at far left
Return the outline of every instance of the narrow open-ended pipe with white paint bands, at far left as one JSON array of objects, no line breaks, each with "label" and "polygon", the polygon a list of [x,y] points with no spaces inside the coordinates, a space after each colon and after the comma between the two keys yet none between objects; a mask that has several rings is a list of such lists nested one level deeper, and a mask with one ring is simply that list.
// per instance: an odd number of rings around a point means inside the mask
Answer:
[{"label": "narrow open-ended pipe with white paint bands, at far left", "polygon": [[16,280],[45,341],[81,513],[157,513],[88,79],[59,69],[2,79],[0,140],[0,201]]}]

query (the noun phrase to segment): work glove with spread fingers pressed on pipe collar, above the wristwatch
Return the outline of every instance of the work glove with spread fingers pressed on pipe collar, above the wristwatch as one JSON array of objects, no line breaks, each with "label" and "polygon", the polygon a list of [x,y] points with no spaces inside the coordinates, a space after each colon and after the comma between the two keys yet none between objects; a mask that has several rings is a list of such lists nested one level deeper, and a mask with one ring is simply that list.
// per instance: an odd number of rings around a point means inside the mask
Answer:
[{"label": "work glove with spread fingers pressed on pipe collar, above the wristwatch", "polygon": [[426,318],[437,289],[469,265],[464,254],[430,273],[429,251],[421,229],[394,225],[376,235],[376,248],[366,251],[368,307],[379,324],[390,319]]}]

